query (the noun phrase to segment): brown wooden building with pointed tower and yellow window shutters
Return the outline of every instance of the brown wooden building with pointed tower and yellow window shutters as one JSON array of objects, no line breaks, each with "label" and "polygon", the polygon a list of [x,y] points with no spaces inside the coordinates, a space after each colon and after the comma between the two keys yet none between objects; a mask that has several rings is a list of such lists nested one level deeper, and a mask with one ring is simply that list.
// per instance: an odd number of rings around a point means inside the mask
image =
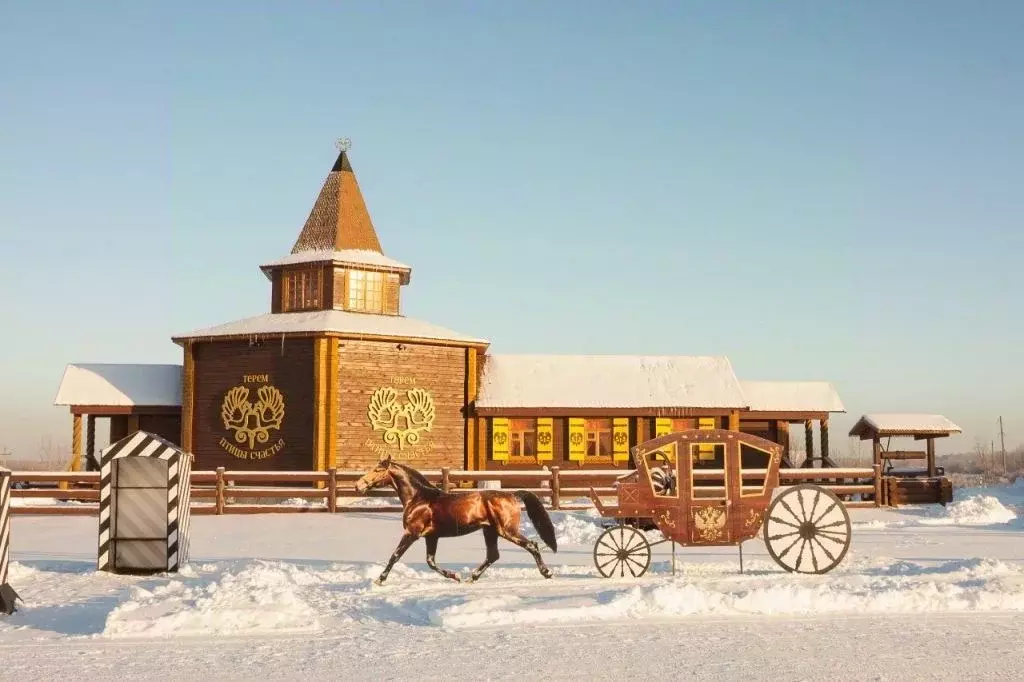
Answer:
[{"label": "brown wooden building with pointed tower and yellow window shutters", "polygon": [[[384,454],[423,468],[626,468],[630,446],[671,431],[788,446],[790,424],[815,422],[826,455],[828,415],[844,412],[830,384],[740,382],[725,357],[490,354],[485,339],[404,315],[412,268],[385,255],[345,151],[291,252],[260,268],[268,312],[173,337],[175,404],[117,408],[173,414],[197,468],[360,469]],[[131,366],[115,379],[167,373]],[[114,414],[117,380],[74,398],[65,383],[73,414]]]}]

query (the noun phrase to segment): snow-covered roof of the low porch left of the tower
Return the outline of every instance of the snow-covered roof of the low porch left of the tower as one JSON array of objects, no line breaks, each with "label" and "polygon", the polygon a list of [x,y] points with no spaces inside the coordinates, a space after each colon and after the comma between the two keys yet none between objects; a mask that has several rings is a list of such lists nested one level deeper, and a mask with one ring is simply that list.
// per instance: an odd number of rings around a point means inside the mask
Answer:
[{"label": "snow-covered roof of the low porch left of the tower", "polygon": [[180,365],[69,365],[53,404],[179,406]]}]

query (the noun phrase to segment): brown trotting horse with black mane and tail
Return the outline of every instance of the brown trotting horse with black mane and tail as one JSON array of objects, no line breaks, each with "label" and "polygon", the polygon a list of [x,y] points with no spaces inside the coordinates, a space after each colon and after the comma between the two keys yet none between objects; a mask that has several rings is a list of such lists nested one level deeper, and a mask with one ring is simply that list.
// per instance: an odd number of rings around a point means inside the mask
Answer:
[{"label": "brown trotting horse with black mane and tail", "polygon": [[475,583],[487,566],[498,561],[498,539],[504,538],[534,556],[541,574],[551,578],[551,569],[544,563],[537,543],[519,531],[519,501],[526,507],[526,514],[544,543],[552,552],[558,551],[555,527],[540,498],[528,491],[468,491],[445,493],[431,484],[416,469],[392,462],[391,456],[383,458],[377,465],[355,481],[355,492],[362,495],[373,487],[390,483],[401,500],[401,523],[403,532],[398,546],[388,560],[380,577],[374,581],[383,585],[391,567],[406,550],[423,538],[427,545],[427,565],[457,583],[459,576],[437,565],[439,538],[456,538],[475,530],[483,531],[483,542],[487,548],[486,558],[470,574],[469,582]]}]

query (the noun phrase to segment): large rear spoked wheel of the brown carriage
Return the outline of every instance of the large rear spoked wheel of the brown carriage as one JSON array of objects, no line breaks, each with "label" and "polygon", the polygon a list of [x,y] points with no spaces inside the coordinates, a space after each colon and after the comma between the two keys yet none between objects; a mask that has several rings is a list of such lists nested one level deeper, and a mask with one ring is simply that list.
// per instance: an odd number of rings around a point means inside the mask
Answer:
[{"label": "large rear spoked wheel of the brown carriage", "polygon": [[786,570],[826,573],[850,549],[850,514],[831,491],[794,485],[768,506],[764,539],[768,554]]}]

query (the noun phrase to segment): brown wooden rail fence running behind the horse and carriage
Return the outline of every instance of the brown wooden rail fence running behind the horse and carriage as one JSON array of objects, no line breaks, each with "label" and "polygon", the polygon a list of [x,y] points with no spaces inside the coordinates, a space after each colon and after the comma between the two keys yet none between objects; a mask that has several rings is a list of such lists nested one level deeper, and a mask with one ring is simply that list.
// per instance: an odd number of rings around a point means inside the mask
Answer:
[{"label": "brown wooden rail fence running behind the horse and carriage", "polygon": [[[395,512],[393,503],[373,504],[353,499],[396,499],[392,488],[355,492],[354,483],[362,471],[194,471],[191,473],[193,514],[262,514],[302,512]],[[614,470],[549,471],[461,471],[440,469],[422,471],[431,482],[444,491],[477,487],[497,481],[503,488],[527,489],[540,497],[550,509],[582,510],[591,506],[589,491],[601,498],[613,498],[616,478],[628,472]],[[744,472],[756,475],[757,471]],[[699,474],[697,474],[699,477]],[[763,474],[762,474],[763,475]],[[44,484],[46,487],[15,488],[14,500],[54,500],[57,504],[14,504],[13,514],[97,513],[99,473],[85,471],[22,471],[13,473],[13,482]],[[882,503],[882,477],[877,467],[844,469],[781,469],[780,485],[813,482],[841,496],[847,507],[874,507]],[[860,500],[849,500],[860,496]],[[871,500],[864,500],[870,496]],[[281,504],[298,500],[301,504]],[[278,501],[274,503],[273,501]],[[71,503],[71,504],[67,504]]]}]

